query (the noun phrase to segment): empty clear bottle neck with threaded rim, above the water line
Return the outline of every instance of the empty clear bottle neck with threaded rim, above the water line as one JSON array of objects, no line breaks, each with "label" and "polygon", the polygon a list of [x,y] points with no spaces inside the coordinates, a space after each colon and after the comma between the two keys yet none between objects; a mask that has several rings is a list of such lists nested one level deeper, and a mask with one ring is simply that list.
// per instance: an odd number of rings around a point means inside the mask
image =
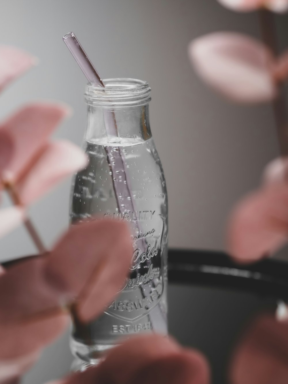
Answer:
[{"label": "empty clear bottle neck with threaded rim, above the water line", "polygon": [[86,86],[86,141],[132,145],[151,137],[149,84],[137,79],[104,79],[104,88]]}]

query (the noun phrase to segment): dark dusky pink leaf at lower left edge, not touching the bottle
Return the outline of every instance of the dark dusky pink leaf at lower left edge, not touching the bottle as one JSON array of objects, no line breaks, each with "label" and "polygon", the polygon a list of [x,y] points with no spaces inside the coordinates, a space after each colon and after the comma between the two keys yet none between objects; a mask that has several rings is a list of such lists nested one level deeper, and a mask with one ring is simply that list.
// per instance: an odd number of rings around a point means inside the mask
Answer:
[{"label": "dark dusky pink leaf at lower left edge, not touching the bottle", "polygon": [[0,361],[38,352],[69,323],[46,284],[45,265],[45,257],[26,260],[0,277]]}]

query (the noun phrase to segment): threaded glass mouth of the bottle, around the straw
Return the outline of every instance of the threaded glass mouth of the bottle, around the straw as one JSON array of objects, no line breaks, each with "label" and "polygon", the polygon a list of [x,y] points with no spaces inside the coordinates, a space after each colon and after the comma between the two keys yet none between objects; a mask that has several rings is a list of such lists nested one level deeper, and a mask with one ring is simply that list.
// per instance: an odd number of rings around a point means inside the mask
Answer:
[{"label": "threaded glass mouth of the bottle, around the straw", "polygon": [[105,88],[86,85],[85,98],[88,104],[104,106],[143,105],[151,100],[151,88],[147,81],[129,78],[103,79]]}]

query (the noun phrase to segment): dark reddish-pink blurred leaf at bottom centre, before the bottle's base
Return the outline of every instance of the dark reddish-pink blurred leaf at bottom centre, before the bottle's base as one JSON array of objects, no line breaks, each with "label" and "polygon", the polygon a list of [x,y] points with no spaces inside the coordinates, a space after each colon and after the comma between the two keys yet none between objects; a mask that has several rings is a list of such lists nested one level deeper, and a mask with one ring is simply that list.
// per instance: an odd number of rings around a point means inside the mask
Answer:
[{"label": "dark reddish-pink blurred leaf at bottom centre, before the bottle's base", "polygon": [[96,368],[77,373],[65,384],[209,384],[208,364],[200,353],[154,334],[132,337],[110,351]]}]

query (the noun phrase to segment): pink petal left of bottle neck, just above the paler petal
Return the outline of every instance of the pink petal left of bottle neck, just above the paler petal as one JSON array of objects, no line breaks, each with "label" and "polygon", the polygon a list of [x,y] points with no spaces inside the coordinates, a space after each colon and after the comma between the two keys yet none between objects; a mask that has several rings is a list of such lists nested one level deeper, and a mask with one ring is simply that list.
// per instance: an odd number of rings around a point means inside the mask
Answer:
[{"label": "pink petal left of bottle neck, just above the paler petal", "polygon": [[10,181],[20,177],[20,173],[35,160],[56,126],[69,113],[65,106],[35,103],[22,108],[5,121],[0,128],[10,135],[14,153],[2,177]]}]

